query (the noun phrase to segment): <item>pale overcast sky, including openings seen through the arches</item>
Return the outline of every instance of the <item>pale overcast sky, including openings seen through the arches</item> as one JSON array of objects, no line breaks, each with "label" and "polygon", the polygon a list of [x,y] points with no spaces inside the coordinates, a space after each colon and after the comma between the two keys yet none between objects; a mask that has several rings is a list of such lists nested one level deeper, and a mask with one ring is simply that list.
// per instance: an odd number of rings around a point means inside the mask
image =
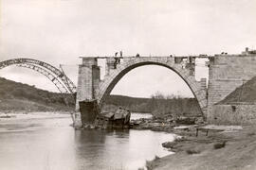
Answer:
[{"label": "pale overcast sky, including openings seen through the arches", "polygon": [[[81,56],[119,50],[124,56],[238,54],[255,48],[255,18],[256,0],[1,0],[0,60],[64,64],[76,84]],[[207,73],[196,68],[197,79]],[[45,76],[25,68],[7,67],[0,76],[57,91]],[[160,66],[132,70],[112,93],[157,91],[192,96],[179,76]]]}]

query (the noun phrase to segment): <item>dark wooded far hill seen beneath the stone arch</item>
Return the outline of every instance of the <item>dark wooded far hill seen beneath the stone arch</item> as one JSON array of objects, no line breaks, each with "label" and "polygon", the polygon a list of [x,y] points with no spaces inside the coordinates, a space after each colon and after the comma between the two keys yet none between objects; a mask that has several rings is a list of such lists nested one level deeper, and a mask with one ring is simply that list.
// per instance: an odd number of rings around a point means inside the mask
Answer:
[{"label": "dark wooded far hill seen beneath the stone arch", "polygon": [[201,110],[195,98],[139,98],[123,95],[109,95],[106,105],[121,106],[135,112],[153,114],[200,115]]}]

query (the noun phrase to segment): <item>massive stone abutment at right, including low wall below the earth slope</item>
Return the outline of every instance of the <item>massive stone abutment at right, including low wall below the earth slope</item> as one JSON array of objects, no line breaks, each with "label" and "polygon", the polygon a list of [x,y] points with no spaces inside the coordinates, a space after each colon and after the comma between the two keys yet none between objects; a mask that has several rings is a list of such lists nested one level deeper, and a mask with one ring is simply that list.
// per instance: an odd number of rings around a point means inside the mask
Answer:
[{"label": "massive stone abutment at right, including low wall below the earth slope", "polygon": [[[256,55],[219,55],[210,58],[207,116],[209,123],[247,124],[252,122],[251,117],[256,118],[255,111],[252,111],[252,108],[256,108],[255,104],[253,106],[249,103],[241,103],[239,97],[230,104],[222,103],[230,93],[254,76],[256,76]],[[241,91],[240,94],[242,93]],[[232,110],[232,108],[238,109]]]}]

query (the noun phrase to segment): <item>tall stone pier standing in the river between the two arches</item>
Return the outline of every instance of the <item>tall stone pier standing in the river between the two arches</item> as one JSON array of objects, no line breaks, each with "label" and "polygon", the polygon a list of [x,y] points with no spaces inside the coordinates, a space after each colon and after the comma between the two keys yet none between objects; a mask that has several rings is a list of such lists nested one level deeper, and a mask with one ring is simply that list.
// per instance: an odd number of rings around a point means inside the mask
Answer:
[{"label": "tall stone pier standing in the river between the two arches", "polygon": [[96,93],[99,89],[100,83],[100,67],[96,58],[82,58],[82,64],[79,65],[78,86],[77,86],[77,100],[76,100],[76,114],[75,127],[82,127],[82,125],[90,124],[92,114],[97,112],[85,113],[81,115],[81,108],[79,102],[96,100]]}]

